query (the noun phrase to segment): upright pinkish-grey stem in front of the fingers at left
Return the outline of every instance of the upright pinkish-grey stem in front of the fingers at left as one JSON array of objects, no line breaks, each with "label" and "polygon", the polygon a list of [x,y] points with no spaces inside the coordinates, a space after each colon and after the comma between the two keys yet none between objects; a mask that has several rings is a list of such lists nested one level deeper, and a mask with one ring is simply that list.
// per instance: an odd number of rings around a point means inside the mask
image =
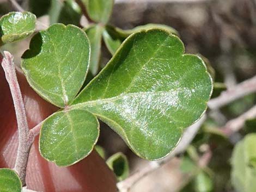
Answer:
[{"label": "upright pinkish-grey stem in front of the fingers at left", "polygon": [[14,108],[17,118],[17,127],[19,133],[19,145],[14,170],[19,174],[22,185],[26,184],[26,168],[29,155],[30,145],[28,145],[28,123],[23,103],[20,85],[17,80],[13,55],[4,51],[5,58],[2,60],[2,66],[5,72],[5,77],[10,86],[11,96],[13,97]]}]

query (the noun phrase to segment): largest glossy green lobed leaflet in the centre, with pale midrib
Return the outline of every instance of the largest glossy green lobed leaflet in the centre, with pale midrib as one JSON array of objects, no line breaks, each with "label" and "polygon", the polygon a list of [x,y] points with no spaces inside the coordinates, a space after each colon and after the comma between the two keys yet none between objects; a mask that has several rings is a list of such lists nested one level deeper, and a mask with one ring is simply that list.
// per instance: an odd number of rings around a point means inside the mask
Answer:
[{"label": "largest glossy green lobed leaflet in the centre, with pale midrib", "polygon": [[129,36],[72,107],[95,114],[138,156],[155,160],[202,116],[211,91],[203,60],[184,54],[178,36],[151,29]]}]

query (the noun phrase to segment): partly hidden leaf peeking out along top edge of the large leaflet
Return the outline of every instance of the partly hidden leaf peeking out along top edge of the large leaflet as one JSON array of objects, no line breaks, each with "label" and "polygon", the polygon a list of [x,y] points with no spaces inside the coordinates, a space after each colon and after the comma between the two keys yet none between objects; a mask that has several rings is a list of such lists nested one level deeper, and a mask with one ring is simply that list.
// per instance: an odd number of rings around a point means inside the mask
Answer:
[{"label": "partly hidden leaf peeking out along top edge of the large leaflet", "polygon": [[121,43],[132,33],[137,33],[141,30],[149,30],[149,29],[155,29],[155,28],[167,30],[172,34],[178,35],[178,32],[172,27],[166,26],[164,24],[150,23],[150,24],[145,24],[144,26],[138,26],[129,30],[123,30],[113,26],[106,26],[103,32],[103,40],[108,48],[108,51],[113,55],[115,51],[117,51]]}]

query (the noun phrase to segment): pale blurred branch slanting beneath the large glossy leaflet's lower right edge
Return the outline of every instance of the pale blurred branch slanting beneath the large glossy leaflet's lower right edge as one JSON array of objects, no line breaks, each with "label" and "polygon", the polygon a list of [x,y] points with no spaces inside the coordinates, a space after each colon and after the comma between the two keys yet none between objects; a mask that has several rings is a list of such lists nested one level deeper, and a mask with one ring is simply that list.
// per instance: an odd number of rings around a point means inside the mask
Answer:
[{"label": "pale blurred branch slanting beneath the large glossy leaflet's lower right edge", "polygon": [[119,189],[119,191],[120,192],[129,191],[129,189],[134,184],[136,184],[140,179],[149,175],[154,170],[160,168],[160,166],[168,163],[170,159],[175,157],[177,154],[184,152],[187,146],[190,145],[191,141],[193,140],[194,136],[196,135],[198,129],[203,124],[205,119],[206,119],[206,115],[203,115],[196,123],[188,127],[184,135],[182,136],[178,146],[176,146],[176,148],[166,158],[157,160],[156,162],[150,162],[149,165],[143,168],[142,170],[137,171],[135,174],[126,178],[124,181],[118,182],[117,188]]}]

